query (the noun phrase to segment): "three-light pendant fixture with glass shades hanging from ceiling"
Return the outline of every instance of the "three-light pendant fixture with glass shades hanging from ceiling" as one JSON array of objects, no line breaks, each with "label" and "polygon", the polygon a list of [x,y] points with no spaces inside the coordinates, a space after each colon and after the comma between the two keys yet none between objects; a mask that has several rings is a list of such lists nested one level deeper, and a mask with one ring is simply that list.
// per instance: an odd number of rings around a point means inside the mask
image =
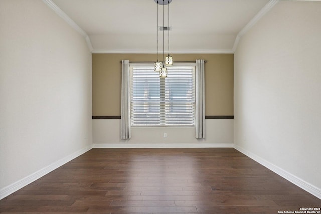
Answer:
[{"label": "three-light pendant fixture with glass shades hanging from ceiling", "polygon": [[[168,32],[168,48],[169,48],[169,53],[168,56],[165,58],[165,63],[159,61],[159,37],[158,37],[158,31],[162,30],[163,31],[163,60],[164,60],[164,31],[170,30],[170,9],[168,6],[168,26],[164,26],[164,5],[169,5],[172,0],[154,0],[157,3],[157,62],[155,62],[155,71],[159,72],[159,77],[167,77],[167,68],[164,66],[171,66],[173,65],[173,58],[170,56],[170,32]],[[158,5],[163,6],[163,26],[161,28],[158,28]]]}]

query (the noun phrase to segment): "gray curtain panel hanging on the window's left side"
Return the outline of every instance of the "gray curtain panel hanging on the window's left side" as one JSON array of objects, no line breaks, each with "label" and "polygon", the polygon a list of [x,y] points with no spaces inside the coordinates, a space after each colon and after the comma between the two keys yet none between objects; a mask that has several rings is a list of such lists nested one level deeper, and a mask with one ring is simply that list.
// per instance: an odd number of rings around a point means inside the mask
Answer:
[{"label": "gray curtain panel hanging on the window's left side", "polygon": [[130,139],[130,66],[122,60],[121,73],[121,139]]}]

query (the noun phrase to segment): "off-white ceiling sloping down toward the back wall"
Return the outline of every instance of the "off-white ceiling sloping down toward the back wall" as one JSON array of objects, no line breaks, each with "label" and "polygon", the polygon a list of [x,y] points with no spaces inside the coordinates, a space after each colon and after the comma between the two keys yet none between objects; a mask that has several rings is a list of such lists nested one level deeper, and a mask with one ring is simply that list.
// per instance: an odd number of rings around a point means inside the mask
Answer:
[{"label": "off-white ceiling sloping down toward the back wall", "polygon": [[[51,0],[89,36],[95,53],[156,53],[154,0]],[[237,34],[268,0],[173,0],[171,53],[232,53]],[[167,6],[164,6],[167,26]],[[162,26],[159,5],[159,26]],[[167,49],[167,31],[165,49]],[[163,31],[159,32],[162,51]]]}]

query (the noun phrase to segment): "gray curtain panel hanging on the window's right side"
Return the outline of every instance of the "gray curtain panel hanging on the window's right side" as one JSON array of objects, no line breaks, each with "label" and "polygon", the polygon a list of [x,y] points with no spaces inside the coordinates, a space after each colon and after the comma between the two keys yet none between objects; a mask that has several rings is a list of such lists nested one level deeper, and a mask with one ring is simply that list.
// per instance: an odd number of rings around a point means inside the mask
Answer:
[{"label": "gray curtain panel hanging on the window's right side", "polygon": [[196,60],[195,66],[195,137],[205,138],[205,79],[204,79],[204,60]]}]

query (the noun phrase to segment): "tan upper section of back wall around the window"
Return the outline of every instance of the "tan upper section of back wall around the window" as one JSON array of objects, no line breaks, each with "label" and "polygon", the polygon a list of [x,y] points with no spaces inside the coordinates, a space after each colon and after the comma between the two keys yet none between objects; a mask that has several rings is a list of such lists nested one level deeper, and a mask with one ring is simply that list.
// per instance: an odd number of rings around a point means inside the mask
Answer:
[{"label": "tan upper section of back wall around the window", "polygon": [[[93,116],[120,116],[121,60],[156,58],[156,54],[92,54]],[[173,54],[173,59],[207,60],[206,115],[233,115],[233,54]]]}]

